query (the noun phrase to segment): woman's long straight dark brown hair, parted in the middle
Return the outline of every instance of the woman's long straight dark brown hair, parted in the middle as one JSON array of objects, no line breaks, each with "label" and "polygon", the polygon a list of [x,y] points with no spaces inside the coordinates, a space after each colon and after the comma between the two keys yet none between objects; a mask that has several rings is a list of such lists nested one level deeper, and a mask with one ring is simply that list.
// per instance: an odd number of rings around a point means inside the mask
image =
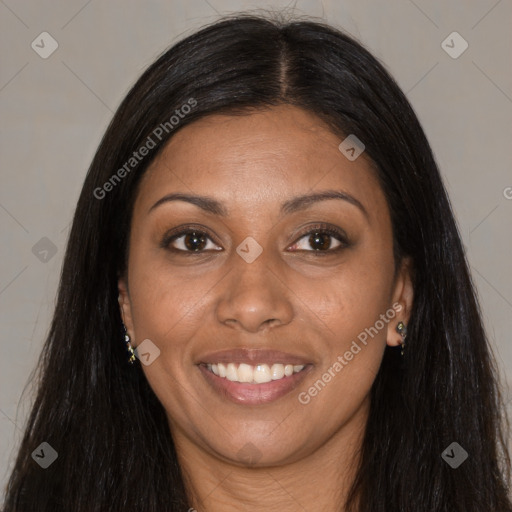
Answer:
[{"label": "woman's long straight dark brown hair, parted in the middle", "polygon": [[[191,99],[193,108],[169,126]],[[139,361],[127,364],[123,344],[117,279],[137,185],[184,126],[280,104],[364,141],[391,212],[395,264],[404,256],[414,264],[406,354],[400,363],[386,348],[347,510],[512,511],[497,370],[449,199],[411,106],[383,65],[343,32],[238,14],[159,57],[103,137],[76,208],[5,512],[187,510],[163,406]],[[148,137],[155,147],[126,167]],[[58,453],[47,469],[31,457],[42,442]],[[441,457],[452,442],[469,454],[457,469]]]}]

